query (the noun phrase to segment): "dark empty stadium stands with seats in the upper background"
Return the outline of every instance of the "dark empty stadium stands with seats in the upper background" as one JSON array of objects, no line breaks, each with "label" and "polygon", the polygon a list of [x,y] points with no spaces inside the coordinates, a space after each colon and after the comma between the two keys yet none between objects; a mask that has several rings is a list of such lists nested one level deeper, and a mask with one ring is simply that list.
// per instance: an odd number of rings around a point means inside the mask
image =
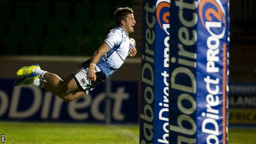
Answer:
[{"label": "dark empty stadium stands with seats in the upper background", "polygon": [[[1,0],[0,55],[91,56],[115,27],[116,7],[132,7],[130,34],[141,52],[142,0]],[[256,2],[230,1],[230,82],[255,82]]]}]

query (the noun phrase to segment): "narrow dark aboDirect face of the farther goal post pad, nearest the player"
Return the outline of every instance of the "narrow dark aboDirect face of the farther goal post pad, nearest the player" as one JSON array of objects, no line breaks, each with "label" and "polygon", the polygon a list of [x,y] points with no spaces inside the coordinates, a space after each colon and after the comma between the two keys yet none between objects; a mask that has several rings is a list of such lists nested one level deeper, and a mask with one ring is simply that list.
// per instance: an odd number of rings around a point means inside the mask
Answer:
[{"label": "narrow dark aboDirect face of the farther goal post pad, nearest the player", "polygon": [[153,143],[155,5],[154,0],[143,0],[142,15],[142,81],[139,124],[140,144]]}]

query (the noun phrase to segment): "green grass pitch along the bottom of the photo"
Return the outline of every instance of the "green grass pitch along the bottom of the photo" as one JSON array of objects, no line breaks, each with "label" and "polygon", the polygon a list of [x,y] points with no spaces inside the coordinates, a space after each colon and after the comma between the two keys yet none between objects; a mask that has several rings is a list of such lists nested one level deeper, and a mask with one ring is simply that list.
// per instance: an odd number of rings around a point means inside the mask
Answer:
[{"label": "green grass pitch along the bottom of the photo", "polygon": [[[139,144],[139,125],[0,121],[6,144]],[[229,128],[229,144],[256,144],[256,128]]]}]

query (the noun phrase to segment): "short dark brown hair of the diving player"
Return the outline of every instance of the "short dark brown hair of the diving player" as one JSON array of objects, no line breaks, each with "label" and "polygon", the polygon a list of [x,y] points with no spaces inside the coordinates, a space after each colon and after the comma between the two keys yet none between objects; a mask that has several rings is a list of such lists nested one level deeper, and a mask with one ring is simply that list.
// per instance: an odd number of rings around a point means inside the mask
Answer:
[{"label": "short dark brown hair of the diving player", "polygon": [[114,17],[116,19],[117,25],[121,24],[121,21],[126,21],[127,15],[133,14],[133,9],[130,7],[119,7],[114,12]]}]

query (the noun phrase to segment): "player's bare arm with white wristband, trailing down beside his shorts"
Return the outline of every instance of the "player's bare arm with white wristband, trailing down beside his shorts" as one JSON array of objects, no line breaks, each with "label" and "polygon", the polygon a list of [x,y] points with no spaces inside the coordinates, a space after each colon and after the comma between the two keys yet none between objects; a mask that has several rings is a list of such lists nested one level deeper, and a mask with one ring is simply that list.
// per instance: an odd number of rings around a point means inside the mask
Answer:
[{"label": "player's bare arm with white wristband, trailing down beside his shorts", "polygon": [[94,52],[94,55],[91,58],[91,64],[89,66],[89,70],[87,72],[87,80],[89,81],[95,81],[96,80],[96,74],[94,72],[95,66],[100,60],[101,56],[106,54],[108,51],[110,51],[110,48],[107,46],[107,43],[103,43],[98,50]]}]

